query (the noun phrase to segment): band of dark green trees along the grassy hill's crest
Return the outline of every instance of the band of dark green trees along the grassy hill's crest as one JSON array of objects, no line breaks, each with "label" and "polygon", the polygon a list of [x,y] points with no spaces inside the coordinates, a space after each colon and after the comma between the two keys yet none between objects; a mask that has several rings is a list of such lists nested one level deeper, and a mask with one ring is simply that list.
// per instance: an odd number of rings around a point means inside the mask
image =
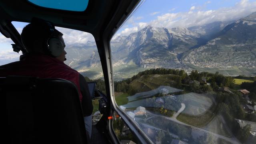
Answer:
[{"label": "band of dark green trees along the grassy hill's crest", "polygon": [[[137,91],[133,88],[130,83],[140,78],[141,76],[146,76],[149,74],[174,74],[173,80],[176,82],[175,88],[186,88],[192,92],[202,93],[211,92],[213,90],[218,90],[219,87],[234,87],[234,78],[230,76],[223,76],[216,72],[211,74],[209,72],[198,72],[197,70],[192,70],[191,74],[188,75],[184,70],[174,70],[165,68],[156,68],[145,70],[139,72],[138,74],[128,78],[126,80],[114,82],[114,88],[116,92],[124,92],[130,95],[136,94]],[[207,85],[205,82],[209,82],[211,86]]]}]

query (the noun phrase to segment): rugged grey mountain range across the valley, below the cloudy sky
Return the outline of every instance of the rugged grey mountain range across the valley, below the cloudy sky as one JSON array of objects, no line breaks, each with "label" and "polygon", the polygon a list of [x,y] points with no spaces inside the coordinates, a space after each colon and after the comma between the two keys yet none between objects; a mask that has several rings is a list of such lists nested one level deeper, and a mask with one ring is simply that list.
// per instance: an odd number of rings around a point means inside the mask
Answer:
[{"label": "rugged grey mountain range across the valley, below the cloudy sky", "polygon": [[[256,12],[230,22],[190,28],[146,26],[111,40],[113,66],[133,62],[141,68],[194,65],[207,68],[256,66]],[[82,70],[100,66],[95,42],[72,45],[66,64]]]}]

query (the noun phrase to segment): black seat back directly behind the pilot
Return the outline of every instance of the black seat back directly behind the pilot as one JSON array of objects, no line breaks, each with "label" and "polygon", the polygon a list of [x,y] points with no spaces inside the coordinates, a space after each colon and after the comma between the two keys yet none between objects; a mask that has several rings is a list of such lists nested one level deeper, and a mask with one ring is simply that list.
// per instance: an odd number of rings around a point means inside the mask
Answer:
[{"label": "black seat back directly behind the pilot", "polygon": [[76,86],[63,79],[0,78],[6,98],[6,140],[11,144],[85,144]]}]

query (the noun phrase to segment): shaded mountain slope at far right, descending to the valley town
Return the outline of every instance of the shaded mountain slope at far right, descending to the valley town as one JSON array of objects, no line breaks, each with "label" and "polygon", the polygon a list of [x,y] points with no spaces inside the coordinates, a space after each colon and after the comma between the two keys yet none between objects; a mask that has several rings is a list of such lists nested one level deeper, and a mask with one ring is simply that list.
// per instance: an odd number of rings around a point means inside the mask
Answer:
[{"label": "shaded mountain slope at far right, descending to the valley town", "polygon": [[256,13],[227,25],[207,44],[182,57],[185,64],[207,67],[256,66]]}]

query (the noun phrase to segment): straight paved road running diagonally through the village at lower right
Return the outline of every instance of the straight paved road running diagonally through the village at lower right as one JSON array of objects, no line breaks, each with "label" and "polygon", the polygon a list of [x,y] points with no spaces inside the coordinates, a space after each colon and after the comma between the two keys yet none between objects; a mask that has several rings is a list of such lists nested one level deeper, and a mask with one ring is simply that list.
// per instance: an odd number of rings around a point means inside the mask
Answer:
[{"label": "straight paved road running diagonally through the village at lower right", "polygon": [[204,129],[202,129],[202,128],[197,128],[197,127],[195,127],[195,126],[191,126],[191,125],[186,124],[186,123],[184,123],[184,122],[180,122],[180,121],[178,121],[176,118],[170,118],[170,117],[167,117],[167,116],[162,116],[162,115],[154,114],[154,113],[152,113],[152,112],[150,112],[150,111],[148,111],[148,110],[146,110],[146,113],[147,113],[147,114],[150,114],[150,115],[152,115],[152,116],[163,117],[163,118],[166,118],[166,119],[171,120],[171,121],[173,121],[173,122],[176,122],[176,123],[178,123],[178,124],[182,124],[182,125],[184,125],[184,126],[189,126],[189,127],[194,128],[194,129],[196,129],[196,130],[200,130],[200,131],[202,131],[202,132],[206,132],[206,133],[211,134],[211,135],[213,135],[213,136],[215,136],[215,137],[217,137],[217,138],[222,138],[222,139],[224,139],[224,140],[226,140],[226,141],[228,141],[228,142],[231,142],[232,144],[241,144],[235,137],[229,138],[229,137],[226,137],[226,136],[222,136],[222,135],[219,135],[219,134],[215,134],[214,132],[210,132],[210,131],[204,130]]}]

